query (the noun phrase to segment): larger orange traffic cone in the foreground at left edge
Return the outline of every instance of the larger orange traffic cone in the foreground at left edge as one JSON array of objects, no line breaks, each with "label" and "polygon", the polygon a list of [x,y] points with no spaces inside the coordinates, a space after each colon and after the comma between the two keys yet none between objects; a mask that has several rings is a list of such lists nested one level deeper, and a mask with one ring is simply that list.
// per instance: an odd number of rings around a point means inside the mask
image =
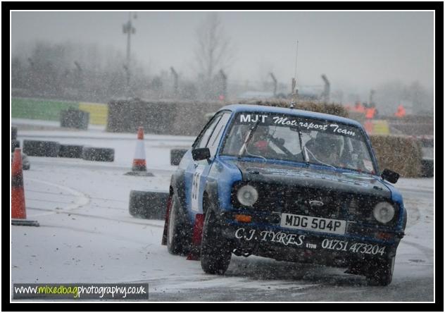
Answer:
[{"label": "larger orange traffic cone in the foreground at left edge", "polygon": [[22,154],[15,148],[11,165],[11,224],[23,226],[39,226],[37,221],[26,219],[25,190],[23,189]]}]

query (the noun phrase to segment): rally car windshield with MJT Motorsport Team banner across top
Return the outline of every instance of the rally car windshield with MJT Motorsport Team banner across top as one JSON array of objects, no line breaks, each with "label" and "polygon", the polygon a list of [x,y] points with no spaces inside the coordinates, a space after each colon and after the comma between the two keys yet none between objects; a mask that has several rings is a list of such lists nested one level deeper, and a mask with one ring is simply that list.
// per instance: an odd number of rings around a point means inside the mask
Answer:
[{"label": "rally car windshield with MJT Motorsport Team banner across top", "polygon": [[359,128],[274,113],[237,114],[220,154],[376,172]]}]

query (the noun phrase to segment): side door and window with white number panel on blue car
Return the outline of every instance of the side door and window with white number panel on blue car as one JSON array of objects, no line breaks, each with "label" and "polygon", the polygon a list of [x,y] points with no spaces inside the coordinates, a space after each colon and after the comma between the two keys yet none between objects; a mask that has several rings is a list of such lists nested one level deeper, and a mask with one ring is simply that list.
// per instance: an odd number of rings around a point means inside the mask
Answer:
[{"label": "side door and window with white number panel on blue car", "polygon": [[[189,176],[189,212],[194,220],[194,215],[202,213],[203,191],[206,186],[208,173],[215,159],[215,153],[218,149],[220,139],[223,136],[227,121],[230,119],[231,112],[223,111],[215,116],[214,121],[209,124],[208,129],[203,133],[201,140],[196,142],[195,148],[208,147],[211,157],[208,160],[193,161],[187,168],[186,176]],[[186,178],[187,179],[187,178]]]}]

